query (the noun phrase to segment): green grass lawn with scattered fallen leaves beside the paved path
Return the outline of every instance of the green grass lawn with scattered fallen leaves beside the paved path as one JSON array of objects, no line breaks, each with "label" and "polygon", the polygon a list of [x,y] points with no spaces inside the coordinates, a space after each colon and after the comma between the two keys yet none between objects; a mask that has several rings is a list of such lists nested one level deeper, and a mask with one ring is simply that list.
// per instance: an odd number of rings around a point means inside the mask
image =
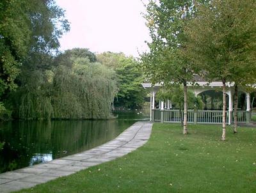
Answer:
[{"label": "green grass lawn with scattered fallen leaves beside the paved path", "polygon": [[155,123],[125,157],[20,192],[256,192],[256,128]]}]

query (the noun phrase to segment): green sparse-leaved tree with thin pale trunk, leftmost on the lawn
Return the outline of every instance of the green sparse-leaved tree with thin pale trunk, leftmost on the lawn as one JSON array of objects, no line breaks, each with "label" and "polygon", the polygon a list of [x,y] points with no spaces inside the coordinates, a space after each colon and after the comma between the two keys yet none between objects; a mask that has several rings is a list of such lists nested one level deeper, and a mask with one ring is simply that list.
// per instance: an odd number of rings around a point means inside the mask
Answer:
[{"label": "green sparse-leaved tree with thin pale trunk, leftmost on the lawn", "polygon": [[150,52],[141,54],[143,72],[154,84],[172,82],[183,85],[184,90],[184,126],[188,133],[188,85],[193,82],[196,69],[182,54],[186,38],[184,27],[195,12],[193,1],[150,1],[147,5],[147,26],[152,38],[148,43]]}]

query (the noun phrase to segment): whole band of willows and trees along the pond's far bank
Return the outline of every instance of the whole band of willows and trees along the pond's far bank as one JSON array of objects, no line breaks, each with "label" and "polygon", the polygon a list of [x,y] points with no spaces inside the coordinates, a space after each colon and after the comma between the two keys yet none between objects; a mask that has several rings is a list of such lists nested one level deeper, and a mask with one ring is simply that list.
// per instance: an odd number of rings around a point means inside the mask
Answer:
[{"label": "whole band of willows and trees along the pond's far bank", "polygon": [[[108,63],[109,56],[122,61]],[[20,86],[6,100],[13,118],[107,119],[115,104],[140,106],[141,73],[134,59],[110,52],[99,58],[104,64],[88,49],[72,49],[49,61],[46,69],[22,68]]]}]

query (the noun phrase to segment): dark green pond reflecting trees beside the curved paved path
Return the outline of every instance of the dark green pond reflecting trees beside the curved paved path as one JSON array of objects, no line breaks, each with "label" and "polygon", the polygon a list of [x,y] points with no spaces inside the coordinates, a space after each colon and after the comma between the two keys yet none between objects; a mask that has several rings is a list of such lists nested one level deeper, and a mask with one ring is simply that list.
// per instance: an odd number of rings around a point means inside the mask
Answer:
[{"label": "dark green pond reflecting trees beside the curved paved path", "polygon": [[137,120],[141,111],[116,111],[115,120],[9,121],[0,123],[0,173],[90,150],[104,144]]}]

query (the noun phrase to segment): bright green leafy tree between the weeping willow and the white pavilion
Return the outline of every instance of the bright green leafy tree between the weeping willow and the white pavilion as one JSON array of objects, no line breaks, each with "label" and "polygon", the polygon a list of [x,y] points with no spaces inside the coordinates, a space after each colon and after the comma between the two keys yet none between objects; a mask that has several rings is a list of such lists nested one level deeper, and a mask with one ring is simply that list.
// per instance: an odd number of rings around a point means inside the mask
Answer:
[{"label": "bright green leafy tree between the weeping willow and the white pavilion", "polygon": [[97,55],[103,65],[116,72],[118,93],[114,105],[116,107],[138,108],[145,102],[146,91],[141,86],[143,73],[137,68],[138,63],[123,53],[104,52]]}]

